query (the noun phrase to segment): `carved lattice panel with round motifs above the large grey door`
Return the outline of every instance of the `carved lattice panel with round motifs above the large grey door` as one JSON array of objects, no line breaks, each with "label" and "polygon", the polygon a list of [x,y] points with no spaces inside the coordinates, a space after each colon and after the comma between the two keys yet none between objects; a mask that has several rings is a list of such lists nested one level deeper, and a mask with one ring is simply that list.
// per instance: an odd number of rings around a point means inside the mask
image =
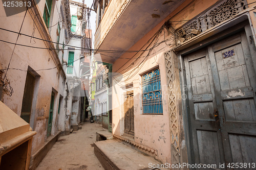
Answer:
[{"label": "carved lattice panel with round motifs above the large grey door", "polygon": [[178,36],[181,42],[185,42],[246,8],[247,2],[245,0],[224,1],[179,29]]}]

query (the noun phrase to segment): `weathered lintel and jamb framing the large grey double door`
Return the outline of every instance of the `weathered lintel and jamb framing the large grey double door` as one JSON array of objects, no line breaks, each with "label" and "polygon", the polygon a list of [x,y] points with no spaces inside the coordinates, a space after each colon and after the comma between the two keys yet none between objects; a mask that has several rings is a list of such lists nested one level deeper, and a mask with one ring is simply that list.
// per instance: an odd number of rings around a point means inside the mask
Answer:
[{"label": "weathered lintel and jamb framing the large grey double door", "polygon": [[[182,88],[184,85],[187,84],[183,57],[187,54],[190,54],[202,48],[205,48],[226,37],[237,34],[243,30],[245,31],[245,34],[248,40],[248,45],[250,48],[250,53],[251,53],[252,49],[255,48],[255,44],[253,43],[255,42],[255,34],[253,32],[253,28],[250,27],[251,25],[252,23],[250,20],[249,12],[244,11],[241,13],[241,15],[237,16],[236,18],[223,21],[219,25],[209,30],[206,30],[200,35],[174,48],[173,50],[174,56],[178,57],[178,62],[179,62],[179,78],[180,78],[181,96],[188,96],[187,90]],[[214,35],[217,35],[217,36],[214,36]],[[251,38],[252,43],[249,43],[250,40],[248,37]],[[252,60],[253,60],[254,69],[256,69],[255,68],[256,59],[252,58]],[[185,137],[186,148],[187,148],[188,163],[194,164],[195,158],[194,158],[194,149],[193,149],[194,147],[193,147],[193,140],[192,140],[191,124],[190,124],[189,101],[188,101],[188,98],[181,99],[181,100],[182,100],[183,128],[184,128],[184,137]]]}]

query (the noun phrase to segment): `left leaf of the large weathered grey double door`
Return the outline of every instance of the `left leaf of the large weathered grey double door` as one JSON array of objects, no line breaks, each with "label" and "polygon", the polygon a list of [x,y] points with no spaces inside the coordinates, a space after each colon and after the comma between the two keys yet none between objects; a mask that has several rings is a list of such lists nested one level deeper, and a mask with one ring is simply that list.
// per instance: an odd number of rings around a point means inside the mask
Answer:
[{"label": "left leaf of the large weathered grey double door", "polygon": [[[206,50],[184,57],[195,162],[219,164],[223,157],[214,86]],[[212,152],[214,151],[214,152]]]}]

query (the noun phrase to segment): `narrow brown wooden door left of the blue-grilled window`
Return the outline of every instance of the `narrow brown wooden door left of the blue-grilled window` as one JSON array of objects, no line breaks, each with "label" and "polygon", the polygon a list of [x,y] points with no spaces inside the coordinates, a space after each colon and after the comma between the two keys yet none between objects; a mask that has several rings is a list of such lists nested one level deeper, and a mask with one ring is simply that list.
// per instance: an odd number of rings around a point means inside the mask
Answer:
[{"label": "narrow brown wooden door left of the blue-grilled window", "polygon": [[134,135],[133,91],[127,92],[124,100],[124,133]]}]

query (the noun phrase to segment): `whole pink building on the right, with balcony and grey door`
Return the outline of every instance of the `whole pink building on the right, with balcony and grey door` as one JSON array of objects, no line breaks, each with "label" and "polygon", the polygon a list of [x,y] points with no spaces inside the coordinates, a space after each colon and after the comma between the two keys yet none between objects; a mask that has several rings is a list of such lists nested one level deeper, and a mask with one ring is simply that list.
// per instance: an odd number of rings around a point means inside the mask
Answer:
[{"label": "whole pink building on the right, with balcony and grey door", "polygon": [[113,136],[162,163],[253,162],[254,7],[243,0],[96,1],[97,60],[118,73]]}]

